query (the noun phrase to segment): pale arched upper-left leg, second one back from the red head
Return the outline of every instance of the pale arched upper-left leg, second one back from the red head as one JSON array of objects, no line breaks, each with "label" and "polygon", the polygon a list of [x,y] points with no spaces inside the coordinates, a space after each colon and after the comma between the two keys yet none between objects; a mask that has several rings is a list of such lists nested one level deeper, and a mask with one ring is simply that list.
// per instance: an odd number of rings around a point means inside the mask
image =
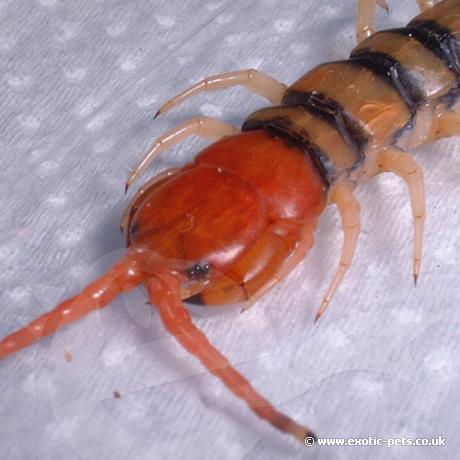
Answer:
[{"label": "pale arched upper-left leg, second one back from the red head", "polygon": [[215,91],[217,89],[231,88],[232,86],[244,86],[249,91],[265,97],[273,104],[279,104],[286,90],[286,85],[276,81],[269,75],[254,69],[238,70],[236,72],[213,75],[187,88],[162,105],[155,115],[167,112],[185,100],[196,96],[203,91]]}]

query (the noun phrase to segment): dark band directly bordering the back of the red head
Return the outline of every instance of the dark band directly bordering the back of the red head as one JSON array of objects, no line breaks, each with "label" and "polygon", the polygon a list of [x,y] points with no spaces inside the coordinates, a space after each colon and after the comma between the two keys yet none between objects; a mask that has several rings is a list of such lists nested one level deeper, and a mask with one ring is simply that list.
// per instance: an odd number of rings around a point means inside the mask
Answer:
[{"label": "dark band directly bordering the back of the red head", "polygon": [[327,186],[336,179],[337,170],[335,164],[322,149],[311,141],[307,132],[298,132],[292,127],[289,117],[276,117],[271,120],[251,118],[246,120],[241,127],[241,131],[251,131],[253,129],[267,129],[270,135],[283,137],[286,142],[310,155]]}]

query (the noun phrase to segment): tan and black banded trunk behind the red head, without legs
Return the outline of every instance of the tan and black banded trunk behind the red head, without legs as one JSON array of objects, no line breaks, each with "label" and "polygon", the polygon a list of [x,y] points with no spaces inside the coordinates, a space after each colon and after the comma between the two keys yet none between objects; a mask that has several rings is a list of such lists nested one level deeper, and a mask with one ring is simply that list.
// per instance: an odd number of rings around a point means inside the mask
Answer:
[{"label": "tan and black banded trunk behind the red head, without legs", "polygon": [[444,1],[407,27],[371,35],[350,59],[307,73],[281,106],[257,111],[243,130],[276,126],[299,139],[330,185],[367,179],[378,172],[384,147],[450,135],[437,121],[460,109],[459,31],[460,2]]}]

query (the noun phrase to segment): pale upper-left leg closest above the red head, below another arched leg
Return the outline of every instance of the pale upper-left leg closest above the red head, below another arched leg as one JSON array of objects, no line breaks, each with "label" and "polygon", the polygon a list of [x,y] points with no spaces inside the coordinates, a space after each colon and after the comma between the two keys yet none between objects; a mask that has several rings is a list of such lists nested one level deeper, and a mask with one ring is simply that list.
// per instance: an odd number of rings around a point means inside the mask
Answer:
[{"label": "pale upper-left leg closest above the red head, below another arched leg", "polygon": [[224,136],[229,136],[237,132],[239,132],[239,129],[236,126],[203,116],[194,117],[181,123],[155,141],[144,158],[131,173],[126,183],[126,190],[131,187],[134,181],[140,177],[147,166],[151,164],[161,152],[190,136],[197,135],[205,139],[216,141]]}]

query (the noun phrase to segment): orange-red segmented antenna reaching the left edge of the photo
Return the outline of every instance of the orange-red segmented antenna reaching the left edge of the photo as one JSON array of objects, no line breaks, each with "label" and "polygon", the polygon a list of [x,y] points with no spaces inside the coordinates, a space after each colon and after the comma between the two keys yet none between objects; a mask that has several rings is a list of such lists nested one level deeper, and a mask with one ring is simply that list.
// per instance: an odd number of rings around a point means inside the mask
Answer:
[{"label": "orange-red segmented antenna reaching the left edge of the photo", "polygon": [[144,280],[135,259],[125,257],[80,294],[65,300],[0,342],[0,359],[15,353],[61,327],[78,321],[93,310],[108,305],[120,293],[134,289]]}]

